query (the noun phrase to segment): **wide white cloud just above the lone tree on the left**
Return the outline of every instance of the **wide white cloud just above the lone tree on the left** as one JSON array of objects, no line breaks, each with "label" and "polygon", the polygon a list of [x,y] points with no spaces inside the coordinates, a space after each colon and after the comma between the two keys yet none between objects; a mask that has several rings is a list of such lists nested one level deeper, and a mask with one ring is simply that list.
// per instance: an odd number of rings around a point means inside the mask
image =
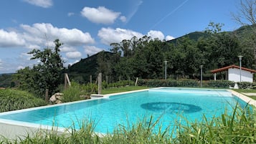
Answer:
[{"label": "wide white cloud just above the lone tree on the left", "polygon": [[82,44],[93,44],[94,39],[87,32],[79,29],[66,29],[53,27],[52,24],[33,24],[32,26],[22,24],[24,29],[24,39],[27,42],[35,44],[44,44],[47,40],[53,42],[54,39],[60,39],[60,42],[71,46]]}]

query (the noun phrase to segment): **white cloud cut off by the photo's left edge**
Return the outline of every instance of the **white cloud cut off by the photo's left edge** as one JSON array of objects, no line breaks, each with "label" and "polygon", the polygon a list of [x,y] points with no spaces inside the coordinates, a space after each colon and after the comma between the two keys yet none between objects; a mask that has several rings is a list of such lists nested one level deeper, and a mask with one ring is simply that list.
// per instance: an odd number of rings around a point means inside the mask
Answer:
[{"label": "white cloud cut off by the photo's left edge", "polygon": [[16,32],[6,32],[0,29],[0,47],[19,47],[25,44],[24,39]]}]

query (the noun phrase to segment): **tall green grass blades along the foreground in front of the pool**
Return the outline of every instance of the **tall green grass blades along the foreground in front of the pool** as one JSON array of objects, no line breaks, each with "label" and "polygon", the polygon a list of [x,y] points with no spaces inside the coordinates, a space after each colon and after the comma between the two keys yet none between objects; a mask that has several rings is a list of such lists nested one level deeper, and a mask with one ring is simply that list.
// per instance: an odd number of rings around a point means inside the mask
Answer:
[{"label": "tall green grass blades along the foreground in front of the pool", "polygon": [[242,110],[236,106],[231,115],[225,112],[211,120],[204,117],[202,122],[187,120],[187,125],[176,122],[174,128],[156,127],[161,121],[153,121],[153,117],[128,125],[118,125],[113,133],[100,135],[94,132],[94,121],[88,120],[80,123],[80,130],[74,127],[69,133],[60,134],[55,129],[42,133],[39,130],[24,139],[2,138],[0,143],[256,143],[255,108],[248,107]]}]

